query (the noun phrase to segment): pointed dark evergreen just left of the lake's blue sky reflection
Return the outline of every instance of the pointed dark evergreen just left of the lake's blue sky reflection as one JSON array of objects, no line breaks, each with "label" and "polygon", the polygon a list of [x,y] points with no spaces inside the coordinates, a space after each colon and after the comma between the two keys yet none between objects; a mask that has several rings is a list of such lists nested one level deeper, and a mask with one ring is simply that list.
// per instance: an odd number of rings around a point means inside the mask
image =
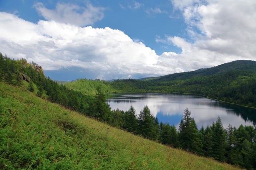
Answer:
[{"label": "pointed dark evergreen just left of the lake's blue sky reflection", "polygon": [[140,135],[148,139],[152,139],[152,134],[154,131],[154,120],[148,106],[144,106],[143,110],[140,111],[138,116],[138,124]]}]

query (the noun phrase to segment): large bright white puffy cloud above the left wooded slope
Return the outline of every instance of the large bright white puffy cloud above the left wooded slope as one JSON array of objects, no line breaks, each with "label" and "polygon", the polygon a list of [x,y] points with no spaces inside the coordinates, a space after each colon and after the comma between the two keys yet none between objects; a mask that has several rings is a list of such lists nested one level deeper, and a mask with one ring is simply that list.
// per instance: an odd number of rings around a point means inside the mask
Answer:
[{"label": "large bright white puffy cloud above the left wooded slope", "polygon": [[44,70],[76,66],[93,70],[100,78],[107,74],[131,78],[135,74],[156,76],[169,72],[157,65],[159,56],[154,50],[109,27],[79,27],[42,20],[34,24],[1,12],[0,32],[2,53],[26,57]]}]

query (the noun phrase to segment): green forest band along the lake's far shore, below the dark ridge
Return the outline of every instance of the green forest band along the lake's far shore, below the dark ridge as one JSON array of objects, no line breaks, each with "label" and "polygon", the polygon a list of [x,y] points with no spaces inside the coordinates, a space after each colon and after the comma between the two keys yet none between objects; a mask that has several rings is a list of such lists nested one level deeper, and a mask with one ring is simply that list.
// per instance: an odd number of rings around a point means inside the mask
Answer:
[{"label": "green forest band along the lake's far shore, below the dark ridge", "polygon": [[256,72],[232,70],[210,76],[194,77],[186,80],[86,80],[79,79],[67,83],[70,89],[84,94],[95,93],[97,86],[104,93],[127,92],[179,92],[201,94],[243,106],[256,107]]}]

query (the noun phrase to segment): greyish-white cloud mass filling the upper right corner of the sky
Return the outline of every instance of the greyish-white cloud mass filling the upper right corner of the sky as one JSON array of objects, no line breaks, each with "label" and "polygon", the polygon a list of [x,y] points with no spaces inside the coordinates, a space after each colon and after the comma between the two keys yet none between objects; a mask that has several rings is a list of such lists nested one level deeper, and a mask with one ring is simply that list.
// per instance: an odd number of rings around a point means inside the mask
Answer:
[{"label": "greyish-white cloud mass filling the upper right corner of the sky", "polygon": [[[156,41],[182,49],[175,55],[178,68],[194,70],[256,59],[256,1],[172,0],[172,4],[182,12],[189,38],[167,36]],[[163,53],[161,57],[168,55]],[[172,53],[169,56],[173,60]]]}]

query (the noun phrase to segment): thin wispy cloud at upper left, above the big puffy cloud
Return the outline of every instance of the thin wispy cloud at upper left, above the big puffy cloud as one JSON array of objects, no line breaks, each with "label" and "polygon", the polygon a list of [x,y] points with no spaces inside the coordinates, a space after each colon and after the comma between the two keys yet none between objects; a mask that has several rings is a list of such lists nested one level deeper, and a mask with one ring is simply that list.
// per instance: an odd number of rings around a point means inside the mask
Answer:
[{"label": "thin wispy cloud at upper left, above the big puffy cloud", "polygon": [[87,4],[84,8],[75,4],[58,3],[55,10],[49,10],[44,4],[37,2],[34,7],[46,20],[79,26],[91,25],[104,17],[104,8],[95,7],[92,4]]}]

